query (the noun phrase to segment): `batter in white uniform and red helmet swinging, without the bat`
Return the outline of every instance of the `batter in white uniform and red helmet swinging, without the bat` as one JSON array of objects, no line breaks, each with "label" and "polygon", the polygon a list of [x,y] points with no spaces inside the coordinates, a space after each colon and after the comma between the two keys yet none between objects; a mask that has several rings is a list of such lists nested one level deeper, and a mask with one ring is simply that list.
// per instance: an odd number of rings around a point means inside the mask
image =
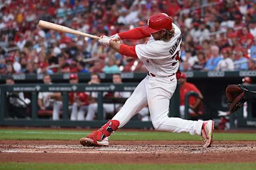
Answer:
[{"label": "batter in white uniform and red helmet swinging, without the bat", "polygon": [[[127,46],[118,44],[121,39],[142,39],[150,37],[146,44]],[[148,105],[151,121],[156,130],[169,132],[188,132],[201,135],[204,147],[213,141],[214,122],[190,121],[178,117],[168,117],[170,99],[177,86],[180,75],[179,57],[181,31],[165,13],[158,13],[147,21],[147,25],[114,36],[103,36],[99,43],[116,50],[122,55],[139,58],[148,70],[143,79],[119,112],[85,138],[80,139],[83,146],[108,146],[108,138],[113,131],[122,128],[135,114]]]}]

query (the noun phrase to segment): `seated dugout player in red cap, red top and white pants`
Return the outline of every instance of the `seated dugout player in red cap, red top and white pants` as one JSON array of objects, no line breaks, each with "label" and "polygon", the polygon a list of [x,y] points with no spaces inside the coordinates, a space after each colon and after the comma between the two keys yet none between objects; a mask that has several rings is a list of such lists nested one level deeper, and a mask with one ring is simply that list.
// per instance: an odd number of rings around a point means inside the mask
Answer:
[{"label": "seated dugout player in red cap, red top and white pants", "polygon": [[[78,77],[76,74],[70,74],[69,83],[78,84]],[[71,121],[84,120],[84,114],[85,112],[87,112],[88,105],[89,105],[88,95],[85,94],[85,92],[69,92],[68,98],[69,98],[69,103],[72,106],[70,120]]]}]

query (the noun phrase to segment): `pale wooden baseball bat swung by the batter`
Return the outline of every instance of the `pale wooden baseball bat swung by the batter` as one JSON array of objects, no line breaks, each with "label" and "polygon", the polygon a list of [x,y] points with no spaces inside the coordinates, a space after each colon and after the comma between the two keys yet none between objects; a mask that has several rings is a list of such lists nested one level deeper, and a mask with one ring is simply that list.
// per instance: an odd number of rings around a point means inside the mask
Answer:
[{"label": "pale wooden baseball bat swung by the batter", "polygon": [[51,29],[51,30],[55,30],[55,31],[67,32],[67,33],[72,33],[72,34],[79,35],[79,36],[100,39],[100,37],[98,37],[98,36],[93,36],[93,35],[90,35],[89,33],[84,33],[81,31],[77,31],[77,30],[65,27],[63,25],[59,25],[59,24],[55,24],[55,23],[47,22],[47,21],[43,21],[43,20],[39,21],[38,26],[47,28],[47,29]]}]

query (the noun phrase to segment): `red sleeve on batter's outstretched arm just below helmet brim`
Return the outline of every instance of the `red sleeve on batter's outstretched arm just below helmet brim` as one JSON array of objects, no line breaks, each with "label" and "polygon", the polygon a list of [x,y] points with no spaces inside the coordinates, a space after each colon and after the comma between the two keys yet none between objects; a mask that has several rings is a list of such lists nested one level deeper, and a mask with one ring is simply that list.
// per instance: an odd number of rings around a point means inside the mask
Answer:
[{"label": "red sleeve on batter's outstretched arm just below helmet brim", "polygon": [[142,39],[150,37],[150,34],[145,32],[142,27],[134,28],[129,31],[118,33],[121,39]]}]

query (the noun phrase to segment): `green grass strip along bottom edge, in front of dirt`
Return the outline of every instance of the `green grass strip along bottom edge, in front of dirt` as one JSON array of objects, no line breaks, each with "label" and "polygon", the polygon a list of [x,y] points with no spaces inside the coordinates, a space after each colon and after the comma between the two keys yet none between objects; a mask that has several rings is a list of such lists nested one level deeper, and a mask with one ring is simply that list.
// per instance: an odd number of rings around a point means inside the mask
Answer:
[{"label": "green grass strip along bottom edge, in front of dirt", "polygon": [[52,163],[0,163],[0,169],[16,170],[16,169],[42,169],[42,170],[54,170],[54,169],[90,169],[90,170],[126,170],[126,169],[179,169],[179,170],[191,170],[191,169],[218,169],[218,170],[247,170],[256,169],[256,163],[211,163],[211,164],[52,164]]}]

